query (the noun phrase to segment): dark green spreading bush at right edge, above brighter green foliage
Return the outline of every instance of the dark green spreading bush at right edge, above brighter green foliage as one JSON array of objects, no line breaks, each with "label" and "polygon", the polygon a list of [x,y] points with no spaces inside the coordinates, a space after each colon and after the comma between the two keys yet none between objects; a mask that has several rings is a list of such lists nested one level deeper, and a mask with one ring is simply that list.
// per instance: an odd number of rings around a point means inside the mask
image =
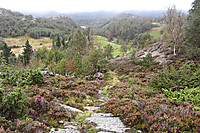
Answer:
[{"label": "dark green spreading bush at right edge, above brighter green foliage", "polygon": [[200,66],[192,64],[185,64],[176,70],[173,66],[170,70],[161,71],[159,76],[154,76],[151,81],[152,87],[162,90],[172,89],[172,91],[179,91],[180,89],[195,88],[200,86]]}]

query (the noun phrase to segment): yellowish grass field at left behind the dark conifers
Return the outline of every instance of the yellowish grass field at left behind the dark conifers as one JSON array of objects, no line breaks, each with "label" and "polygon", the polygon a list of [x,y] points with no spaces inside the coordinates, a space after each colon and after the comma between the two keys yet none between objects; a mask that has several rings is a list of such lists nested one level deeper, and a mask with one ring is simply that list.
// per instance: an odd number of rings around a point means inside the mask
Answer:
[{"label": "yellowish grass field at left behind the dark conifers", "polygon": [[[11,50],[15,54],[21,54],[23,52],[23,45],[25,45],[26,40],[29,40],[29,44],[33,47],[33,50],[37,50],[43,46],[47,48],[52,48],[52,41],[48,37],[41,37],[40,39],[30,38],[28,36],[20,36],[20,37],[9,37],[3,39],[8,46],[21,46],[20,48],[12,48]],[[42,43],[43,45],[40,45]]]}]

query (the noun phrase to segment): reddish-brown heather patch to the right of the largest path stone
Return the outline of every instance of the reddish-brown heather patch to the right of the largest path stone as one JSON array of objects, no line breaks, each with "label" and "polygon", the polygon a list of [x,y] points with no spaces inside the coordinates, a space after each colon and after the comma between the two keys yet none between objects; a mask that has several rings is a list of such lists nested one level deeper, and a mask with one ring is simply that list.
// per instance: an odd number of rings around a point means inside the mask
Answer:
[{"label": "reddish-brown heather patch to the right of the largest path stone", "polygon": [[191,104],[155,97],[149,100],[113,98],[104,109],[143,132],[198,132],[200,116],[192,108]]}]

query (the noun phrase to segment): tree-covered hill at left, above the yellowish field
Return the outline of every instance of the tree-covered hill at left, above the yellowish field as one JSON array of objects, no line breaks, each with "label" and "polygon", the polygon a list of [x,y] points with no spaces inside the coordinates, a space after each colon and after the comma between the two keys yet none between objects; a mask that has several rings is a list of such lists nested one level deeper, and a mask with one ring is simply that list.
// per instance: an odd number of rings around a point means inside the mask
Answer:
[{"label": "tree-covered hill at left, above the yellowish field", "polygon": [[79,25],[67,16],[33,17],[0,8],[0,36],[17,37],[28,34],[33,38],[69,34]]}]

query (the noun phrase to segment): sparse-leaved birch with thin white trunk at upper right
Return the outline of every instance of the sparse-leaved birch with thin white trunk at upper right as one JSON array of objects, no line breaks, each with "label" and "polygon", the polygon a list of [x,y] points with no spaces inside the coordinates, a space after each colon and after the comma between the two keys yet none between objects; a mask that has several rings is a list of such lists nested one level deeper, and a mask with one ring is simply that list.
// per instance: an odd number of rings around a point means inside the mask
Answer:
[{"label": "sparse-leaved birch with thin white trunk at upper right", "polygon": [[174,55],[176,55],[176,47],[183,42],[185,17],[175,6],[169,7],[164,17],[167,40],[174,44]]}]

